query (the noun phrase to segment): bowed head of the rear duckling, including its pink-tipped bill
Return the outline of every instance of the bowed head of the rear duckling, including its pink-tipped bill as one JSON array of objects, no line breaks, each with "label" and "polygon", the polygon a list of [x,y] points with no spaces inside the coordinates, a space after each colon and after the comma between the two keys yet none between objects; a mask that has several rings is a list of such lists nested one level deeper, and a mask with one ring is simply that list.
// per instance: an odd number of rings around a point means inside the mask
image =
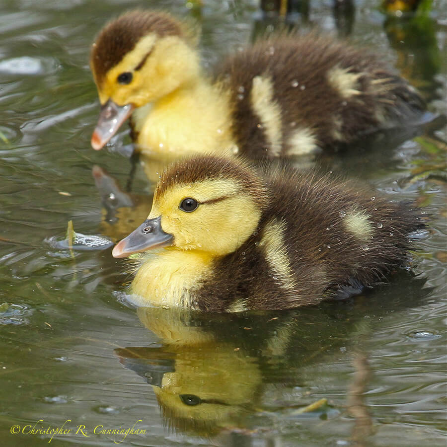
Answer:
[{"label": "bowed head of the rear duckling, including its pink-tipped bill", "polygon": [[101,149],[137,107],[152,103],[200,73],[186,27],[163,12],[135,10],[96,37],[90,66],[102,105],[93,133]]}]

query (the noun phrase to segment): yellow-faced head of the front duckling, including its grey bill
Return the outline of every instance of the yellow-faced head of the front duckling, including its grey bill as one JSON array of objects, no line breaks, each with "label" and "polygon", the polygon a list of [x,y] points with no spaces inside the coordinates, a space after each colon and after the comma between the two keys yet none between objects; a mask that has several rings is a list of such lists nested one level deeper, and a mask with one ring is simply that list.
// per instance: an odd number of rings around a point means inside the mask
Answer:
[{"label": "yellow-faced head of the front duckling, including its grey bill", "polygon": [[268,201],[256,171],[240,160],[200,156],[178,161],[163,172],[148,219],[112,254],[119,258],[169,247],[224,256],[256,231]]}]

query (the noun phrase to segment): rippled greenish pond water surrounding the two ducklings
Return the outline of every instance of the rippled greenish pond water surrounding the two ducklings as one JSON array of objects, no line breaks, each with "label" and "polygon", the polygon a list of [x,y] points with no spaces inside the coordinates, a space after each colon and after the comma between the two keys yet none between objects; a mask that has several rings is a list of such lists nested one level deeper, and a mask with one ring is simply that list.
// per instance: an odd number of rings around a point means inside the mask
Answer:
[{"label": "rippled greenish pond water surrounding the two ducklings", "polygon": [[[148,2],[0,2],[3,446],[445,445],[446,3],[412,19],[386,19],[377,3],[357,1],[350,21],[312,0],[309,20],[352,25],[350,39],[441,117],[317,162],[427,207],[413,273],[348,302],[201,315],[137,311],[110,248],[58,244],[69,221],[116,241],[149,212],[153,185],[115,150],[127,131],[90,148],[99,103],[88,67],[102,25]],[[199,20],[206,66],[263,26],[257,1],[150,5]]]}]

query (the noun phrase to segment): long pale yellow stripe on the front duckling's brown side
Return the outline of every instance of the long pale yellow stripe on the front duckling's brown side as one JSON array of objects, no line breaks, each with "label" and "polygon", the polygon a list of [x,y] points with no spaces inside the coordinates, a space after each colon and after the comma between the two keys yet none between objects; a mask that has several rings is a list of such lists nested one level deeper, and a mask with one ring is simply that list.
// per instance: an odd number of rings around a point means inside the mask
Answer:
[{"label": "long pale yellow stripe on the front duckling's brown side", "polygon": [[259,246],[264,251],[274,279],[276,278],[284,289],[292,292],[296,289],[296,280],[284,240],[285,231],[285,222],[273,219],[266,224]]}]

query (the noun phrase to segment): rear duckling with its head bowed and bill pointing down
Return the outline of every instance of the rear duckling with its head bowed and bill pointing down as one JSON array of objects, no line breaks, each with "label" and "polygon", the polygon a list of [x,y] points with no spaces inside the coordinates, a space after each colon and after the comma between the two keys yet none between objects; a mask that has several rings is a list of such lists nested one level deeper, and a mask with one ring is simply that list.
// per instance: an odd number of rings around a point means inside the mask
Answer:
[{"label": "rear duckling with its head bowed and bill pointing down", "polygon": [[273,35],[207,77],[192,34],[154,11],[104,27],[90,57],[102,105],[93,149],[131,117],[142,152],[296,155],[406,123],[425,107],[378,57],[332,37]]}]

